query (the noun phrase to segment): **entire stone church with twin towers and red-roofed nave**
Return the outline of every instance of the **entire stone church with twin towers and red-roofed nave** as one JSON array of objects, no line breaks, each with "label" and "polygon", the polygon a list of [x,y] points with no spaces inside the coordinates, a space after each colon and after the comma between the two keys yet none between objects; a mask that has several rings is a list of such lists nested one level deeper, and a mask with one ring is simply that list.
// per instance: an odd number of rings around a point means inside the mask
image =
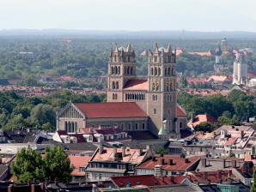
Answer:
[{"label": "entire stone church with twin towers and red-roofed nave", "polygon": [[176,52],[155,43],[148,57],[148,76],[139,77],[131,44],[115,44],[108,59],[107,103],[70,102],[58,111],[57,129],[76,133],[117,127],[180,138],[186,112],[177,105]]}]

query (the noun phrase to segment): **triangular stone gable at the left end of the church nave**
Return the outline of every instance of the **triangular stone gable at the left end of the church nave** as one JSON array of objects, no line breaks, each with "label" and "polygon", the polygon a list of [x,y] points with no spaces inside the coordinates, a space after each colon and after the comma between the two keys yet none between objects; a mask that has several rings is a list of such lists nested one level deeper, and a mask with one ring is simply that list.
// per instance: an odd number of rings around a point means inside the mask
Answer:
[{"label": "triangular stone gable at the left end of the church nave", "polygon": [[71,102],[58,112],[59,118],[84,118],[82,111],[79,111]]}]

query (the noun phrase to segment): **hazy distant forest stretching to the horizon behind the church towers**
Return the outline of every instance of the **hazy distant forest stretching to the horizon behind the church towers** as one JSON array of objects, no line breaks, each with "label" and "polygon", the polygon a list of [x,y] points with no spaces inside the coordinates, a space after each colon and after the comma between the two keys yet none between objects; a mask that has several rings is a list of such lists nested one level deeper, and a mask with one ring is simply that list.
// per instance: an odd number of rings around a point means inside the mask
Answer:
[{"label": "hazy distant forest stretching to the horizon behind the church towers", "polygon": [[[19,79],[21,85],[40,85],[41,75],[70,75],[76,78],[92,78],[106,75],[107,57],[116,41],[118,45],[131,45],[137,55],[137,74],[147,74],[146,56],[140,53],[152,50],[154,39],[88,39],[88,38],[29,38],[0,37],[0,79]],[[220,39],[156,39],[161,46],[171,43],[172,48],[189,51],[214,51]],[[256,49],[256,40],[228,39],[229,49],[250,47]],[[21,54],[33,52],[33,54]],[[235,57],[227,55],[223,62],[232,73]],[[248,57],[248,70],[256,70],[256,54]],[[177,58],[177,71],[186,75],[205,75],[213,72],[214,56],[201,57],[187,53]],[[95,87],[95,84],[83,82],[73,86]]]}]

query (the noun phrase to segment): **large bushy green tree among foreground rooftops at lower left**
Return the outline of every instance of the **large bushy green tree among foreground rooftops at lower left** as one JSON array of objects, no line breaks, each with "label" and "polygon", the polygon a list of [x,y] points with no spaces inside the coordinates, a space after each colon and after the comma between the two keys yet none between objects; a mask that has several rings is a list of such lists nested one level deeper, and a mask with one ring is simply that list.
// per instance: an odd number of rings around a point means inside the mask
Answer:
[{"label": "large bushy green tree among foreground rooftops at lower left", "polygon": [[17,153],[15,163],[11,165],[11,172],[18,183],[27,183],[29,180],[39,182],[54,181],[68,183],[71,180],[70,159],[61,147],[46,148],[45,157],[39,151],[21,149]]}]

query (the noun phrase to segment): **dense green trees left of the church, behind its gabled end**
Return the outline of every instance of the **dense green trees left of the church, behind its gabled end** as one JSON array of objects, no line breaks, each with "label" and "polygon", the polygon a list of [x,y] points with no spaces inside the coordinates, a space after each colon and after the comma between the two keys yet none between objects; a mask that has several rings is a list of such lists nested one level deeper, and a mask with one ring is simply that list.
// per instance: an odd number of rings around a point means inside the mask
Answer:
[{"label": "dense green trees left of the church, behind its gabled end", "polygon": [[56,111],[70,100],[79,102],[102,102],[106,95],[82,95],[64,90],[44,97],[22,97],[15,92],[0,93],[0,127],[13,129],[36,127],[53,130],[56,126]]}]

